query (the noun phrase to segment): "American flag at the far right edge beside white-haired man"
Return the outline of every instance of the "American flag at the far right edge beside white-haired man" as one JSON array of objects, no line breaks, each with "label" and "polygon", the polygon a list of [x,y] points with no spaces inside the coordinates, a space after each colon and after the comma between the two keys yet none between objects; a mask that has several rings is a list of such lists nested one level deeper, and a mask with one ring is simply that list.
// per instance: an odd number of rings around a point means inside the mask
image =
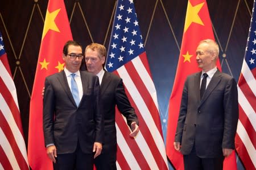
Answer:
[{"label": "American flag at the far right edge beside white-haired man", "polygon": [[[255,1],[254,6],[255,7]],[[256,169],[256,13],[253,10],[245,59],[238,80],[239,120],[236,150],[246,169]]]}]

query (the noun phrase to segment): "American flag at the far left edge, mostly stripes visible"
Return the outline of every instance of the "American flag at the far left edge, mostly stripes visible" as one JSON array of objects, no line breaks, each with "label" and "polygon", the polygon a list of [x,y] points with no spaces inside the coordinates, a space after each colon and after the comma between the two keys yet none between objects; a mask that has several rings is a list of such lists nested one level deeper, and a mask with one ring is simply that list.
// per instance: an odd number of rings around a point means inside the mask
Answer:
[{"label": "American flag at the far left edge, mostly stripes visible", "polygon": [[1,32],[0,87],[0,169],[28,169],[16,88]]}]

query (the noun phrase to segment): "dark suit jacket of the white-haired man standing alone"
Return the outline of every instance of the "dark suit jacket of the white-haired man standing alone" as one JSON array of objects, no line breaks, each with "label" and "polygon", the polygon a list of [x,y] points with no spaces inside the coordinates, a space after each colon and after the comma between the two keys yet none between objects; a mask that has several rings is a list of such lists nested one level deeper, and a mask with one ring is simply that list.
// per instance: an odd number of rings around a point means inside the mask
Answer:
[{"label": "dark suit jacket of the white-haired man standing alone", "polygon": [[199,157],[222,155],[222,148],[234,148],[238,122],[237,84],[233,77],[216,71],[200,99],[200,73],[185,81],[175,141],[181,153],[191,152],[195,142]]}]

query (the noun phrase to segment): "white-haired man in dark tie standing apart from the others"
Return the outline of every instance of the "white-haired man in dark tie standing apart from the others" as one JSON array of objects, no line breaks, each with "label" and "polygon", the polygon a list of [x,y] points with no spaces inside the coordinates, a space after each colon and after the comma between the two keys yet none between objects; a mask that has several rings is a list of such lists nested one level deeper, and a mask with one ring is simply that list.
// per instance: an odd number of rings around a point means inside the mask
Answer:
[{"label": "white-haired man in dark tie standing apart from the others", "polygon": [[196,53],[203,71],[185,81],[174,147],[184,155],[185,169],[222,169],[224,157],[234,149],[237,84],[233,77],[218,71],[216,42],[201,41]]}]

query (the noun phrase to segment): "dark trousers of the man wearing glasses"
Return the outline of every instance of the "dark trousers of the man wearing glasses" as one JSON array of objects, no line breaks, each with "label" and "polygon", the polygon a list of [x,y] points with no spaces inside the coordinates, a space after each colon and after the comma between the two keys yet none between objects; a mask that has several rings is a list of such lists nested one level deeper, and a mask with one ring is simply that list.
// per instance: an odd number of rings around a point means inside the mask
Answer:
[{"label": "dark trousers of the man wearing glasses", "polygon": [[[57,151],[58,152],[58,151]],[[57,154],[56,163],[53,163],[55,170],[93,170],[93,153],[84,154],[77,143],[76,151],[72,154]]]}]

